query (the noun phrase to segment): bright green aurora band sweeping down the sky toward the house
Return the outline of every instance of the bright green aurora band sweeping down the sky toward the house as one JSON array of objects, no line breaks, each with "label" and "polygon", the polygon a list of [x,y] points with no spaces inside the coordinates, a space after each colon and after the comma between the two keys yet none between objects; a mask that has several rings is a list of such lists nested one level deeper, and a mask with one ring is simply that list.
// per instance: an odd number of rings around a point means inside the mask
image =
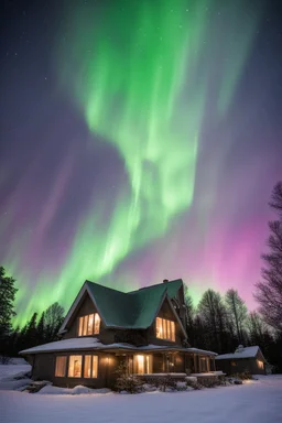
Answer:
[{"label": "bright green aurora band sweeping down the sky toward the house", "polygon": [[[72,42],[62,40],[56,62],[59,84],[70,91],[90,132],[119,152],[128,186],[120,188],[106,227],[107,200],[94,193],[59,274],[42,273],[17,323],[54,301],[69,305],[85,279],[111,273],[131,252],[164,236],[193,203],[209,95],[210,1],[107,4],[97,11],[91,6],[69,8],[64,30]],[[218,118],[231,104],[258,23],[258,17],[241,19],[242,4],[230,3],[230,13],[239,18],[217,40],[216,50],[228,51],[229,57],[221,64]],[[129,288],[119,282],[117,288]],[[24,297],[26,304],[22,288],[18,300]]]}]

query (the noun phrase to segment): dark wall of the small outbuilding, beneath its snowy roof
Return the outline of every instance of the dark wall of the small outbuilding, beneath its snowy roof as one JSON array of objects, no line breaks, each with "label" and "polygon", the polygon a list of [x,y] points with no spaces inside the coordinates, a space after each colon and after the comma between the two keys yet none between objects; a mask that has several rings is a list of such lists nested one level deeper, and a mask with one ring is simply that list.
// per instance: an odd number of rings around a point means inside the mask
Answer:
[{"label": "dark wall of the small outbuilding, beneath its snowy roof", "polygon": [[258,367],[257,358],[216,360],[216,369],[227,375],[242,373],[245,371],[249,371],[251,375],[265,375],[264,368],[260,369]]}]

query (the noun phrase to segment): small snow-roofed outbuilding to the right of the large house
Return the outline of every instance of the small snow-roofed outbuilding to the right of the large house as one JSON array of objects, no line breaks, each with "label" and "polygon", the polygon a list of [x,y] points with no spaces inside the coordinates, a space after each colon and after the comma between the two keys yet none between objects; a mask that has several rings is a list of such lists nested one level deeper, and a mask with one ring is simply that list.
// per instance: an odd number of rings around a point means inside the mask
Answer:
[{"label": "small snow-roofed outbuilding to the right of the large house", "polygon": [[243,347],[239,345],[235,352],[216,357],[216,368],[227,375],[249,371],[251,375],[265,375],[268,362],[259,346]]}]

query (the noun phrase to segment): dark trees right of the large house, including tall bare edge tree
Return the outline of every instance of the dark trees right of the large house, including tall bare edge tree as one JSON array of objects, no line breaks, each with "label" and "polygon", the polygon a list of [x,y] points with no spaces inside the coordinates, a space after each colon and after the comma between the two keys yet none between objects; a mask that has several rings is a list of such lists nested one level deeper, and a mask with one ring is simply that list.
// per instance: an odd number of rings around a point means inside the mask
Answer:
[{"label": "dark trees right of the large house, including tall bare edge tree", "polygon": [[221,296],[207,290],[194,307],[186,290],[189,343],[219,354],[238,345],[259,345],[275,370],[282,372],[282,182],[271,195],[270,207],[276,219],[269,223],[269,251],[262,254],[261,280],[254,285],[258,311],[248,312],[236,290]]}]

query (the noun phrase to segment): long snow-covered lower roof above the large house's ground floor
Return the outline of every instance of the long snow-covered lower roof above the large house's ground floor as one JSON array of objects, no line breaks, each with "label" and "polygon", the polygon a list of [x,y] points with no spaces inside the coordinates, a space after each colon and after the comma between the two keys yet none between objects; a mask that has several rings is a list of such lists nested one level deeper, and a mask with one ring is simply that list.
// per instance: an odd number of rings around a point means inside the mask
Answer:
[{"label": "long snow-covered lower roof above the large house's ground floor", "polygon": [[161,346],[161,345],[147,345],[143,347],[135,347],[134,345],[124,344],[124,343],[115,343],[105,345],[99,341],[97,338],[93,337],[79,337],[79,338],[69,338],[69,339],[63,339],[63,340],[56,340],[55,343],[48,343],[39,345],[33,348],[24,349],[20,351],[20,354],[36,354],[36,352],[51,352],[51,351],[67,351],[67,350],[84,350],[84,349],[97,349],[97,350],[108,350],[108,349],[129,349],[133,351],[149,351],[153,349],[158,350],[181,350],[181,351],[187,351],[187,352],[199,352],[199,354],[206,354],[206,355],[216,355],[216,352],[213,351],[205,351],[204,349],[197,349],[197,348],[182,348],[176,346]]}]

